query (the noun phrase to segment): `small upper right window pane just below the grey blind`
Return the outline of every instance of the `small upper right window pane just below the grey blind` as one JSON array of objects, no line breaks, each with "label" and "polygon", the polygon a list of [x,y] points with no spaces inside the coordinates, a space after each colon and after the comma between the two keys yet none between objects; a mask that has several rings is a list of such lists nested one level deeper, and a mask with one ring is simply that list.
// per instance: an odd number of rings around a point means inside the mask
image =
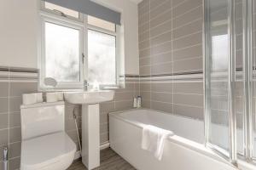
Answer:
[{"label": "small upper right window pane just below the grey blind", "polygon": [[108,22],[106,20],[101,20],[96,17],[88,15],[88,24],[91,26],[97,26],[105,30],[115,32],[115,24]]}]

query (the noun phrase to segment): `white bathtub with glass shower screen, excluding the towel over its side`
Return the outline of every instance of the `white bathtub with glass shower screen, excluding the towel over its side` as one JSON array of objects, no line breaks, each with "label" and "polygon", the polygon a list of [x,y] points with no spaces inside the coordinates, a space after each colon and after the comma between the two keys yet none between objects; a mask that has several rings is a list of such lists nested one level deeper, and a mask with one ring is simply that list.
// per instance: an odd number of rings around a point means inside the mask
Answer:
[{"label": "white bathtub with glass shower screen, excluding the towel over its side", "polygon": [[[141,149],[144,124],[175,133],[166,139],[161,161]],[[139,170],[236,169],[204,147],[204,124],[198,120],[152,110],[119,111],[109,114],[109,132],[110,147]]]}]

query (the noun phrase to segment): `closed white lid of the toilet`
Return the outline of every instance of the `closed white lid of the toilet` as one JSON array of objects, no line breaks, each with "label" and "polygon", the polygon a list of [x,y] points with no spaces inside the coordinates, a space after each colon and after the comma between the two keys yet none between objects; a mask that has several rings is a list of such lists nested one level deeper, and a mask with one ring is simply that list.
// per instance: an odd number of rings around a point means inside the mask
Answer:
[{"label": "closed white lid of the toilet", "polygon": [[21,143],[22,167],[45,167],[59,161],[63,156],[74,154],[76,144],[67,133],[53,133]]}]

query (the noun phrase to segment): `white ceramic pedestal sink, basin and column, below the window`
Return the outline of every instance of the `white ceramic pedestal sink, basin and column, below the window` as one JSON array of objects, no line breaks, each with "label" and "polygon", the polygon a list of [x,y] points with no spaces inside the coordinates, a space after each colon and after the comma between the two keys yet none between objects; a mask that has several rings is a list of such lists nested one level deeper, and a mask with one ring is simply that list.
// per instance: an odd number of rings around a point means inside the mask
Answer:
[{"label": "white ceramic pedestal sink, basin and column, below the window", "polygon": [[82,162],[91,170],[100,166],[100,103],[113,100],[114,92],[81,91],[64,93],[68,103],[82,105]]}]

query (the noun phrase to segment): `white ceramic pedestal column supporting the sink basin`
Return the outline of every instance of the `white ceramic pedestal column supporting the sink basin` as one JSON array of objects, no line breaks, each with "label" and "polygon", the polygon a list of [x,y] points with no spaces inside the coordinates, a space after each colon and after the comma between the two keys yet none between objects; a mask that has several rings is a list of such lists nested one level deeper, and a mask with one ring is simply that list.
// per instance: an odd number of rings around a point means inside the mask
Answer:
[{"label": "white ceramic pedestal column supporting the sink basin", "polygon": [[100,106],[82,105],[82,161],[91,170],[100,166]]}]

